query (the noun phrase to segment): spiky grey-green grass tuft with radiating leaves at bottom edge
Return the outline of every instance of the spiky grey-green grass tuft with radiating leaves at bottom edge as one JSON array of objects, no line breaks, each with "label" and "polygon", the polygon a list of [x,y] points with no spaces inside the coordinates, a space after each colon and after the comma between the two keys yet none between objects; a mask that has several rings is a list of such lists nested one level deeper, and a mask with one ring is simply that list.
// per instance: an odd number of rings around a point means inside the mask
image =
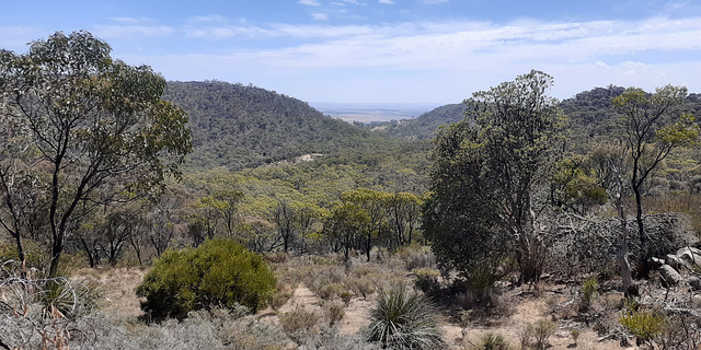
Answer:
[{"label": "spiky grey-green grass tuft with radiating leaves at bottom edge", "polygon": [[370,311],[368,340],[389,349],[440,349],[445,342],[434,315],[423,294],[403,287],[381,291]]}]

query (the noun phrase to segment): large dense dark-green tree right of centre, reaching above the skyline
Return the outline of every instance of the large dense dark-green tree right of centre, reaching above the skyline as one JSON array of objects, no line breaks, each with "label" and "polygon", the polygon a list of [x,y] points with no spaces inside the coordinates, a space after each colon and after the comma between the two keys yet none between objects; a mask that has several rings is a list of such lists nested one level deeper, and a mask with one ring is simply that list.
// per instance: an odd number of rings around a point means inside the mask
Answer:
[{"label": "large dense dark-green tree right of centre, reaching above the skyline", "polygon": [[545,246],[533,212],[539,186],[551,172],[563,119],[545,95],[552,78],[531,71],[466,101],[469,120],[440,130],[432,158],[432,191],[424,232],[438,260],[470,276],[476,267],[496,275],[507,255],[521,279],[542,271]]}]

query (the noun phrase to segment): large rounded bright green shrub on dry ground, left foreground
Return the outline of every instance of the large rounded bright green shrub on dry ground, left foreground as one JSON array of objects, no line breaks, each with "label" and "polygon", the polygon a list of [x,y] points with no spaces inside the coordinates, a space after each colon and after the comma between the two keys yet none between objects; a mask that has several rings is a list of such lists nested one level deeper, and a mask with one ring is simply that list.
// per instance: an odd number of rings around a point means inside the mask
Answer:
[{"label": "large rounded bright green shrub on dry ground, left foreground", "polygon": [[212,306],[244,305],[256,312],[275,291],[275,276],[260,255],[231,240],[165,252],[136,289],[151,317],[183,318]]}]

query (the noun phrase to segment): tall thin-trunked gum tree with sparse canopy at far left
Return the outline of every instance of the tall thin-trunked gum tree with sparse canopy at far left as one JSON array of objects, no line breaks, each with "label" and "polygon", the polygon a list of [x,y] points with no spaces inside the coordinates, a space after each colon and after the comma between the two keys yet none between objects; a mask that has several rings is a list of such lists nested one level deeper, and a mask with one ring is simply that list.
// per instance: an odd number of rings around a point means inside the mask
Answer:
[{"label": "tall thin-trunked gum tree with sparse canopy at far left", "polygon": [[36,178],[31,187],[46,201],[50,276],[85,208],[158,195],[192,148],[186,114],[161,98],[165,80],[110,51],[88,32],[57,32],[24,55],[0,50],[1,137],[10,141],[0,151],[0,220],[23,259],[26,220],[18,205],[27,196],[18,178]]}]

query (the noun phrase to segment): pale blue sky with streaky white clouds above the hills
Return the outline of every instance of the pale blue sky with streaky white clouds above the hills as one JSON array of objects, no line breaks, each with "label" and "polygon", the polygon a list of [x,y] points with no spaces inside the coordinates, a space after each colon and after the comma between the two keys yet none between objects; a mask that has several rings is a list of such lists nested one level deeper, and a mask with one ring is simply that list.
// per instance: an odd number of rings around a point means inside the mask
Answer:
[{"label": "pale blue sky with streaky white clouds above the hills", "polygon": [[0,0],[0,48],[88,31],[166,80],[307,102],[459,103],[531,69],[567,98],[701,92],[699,0]]}]

